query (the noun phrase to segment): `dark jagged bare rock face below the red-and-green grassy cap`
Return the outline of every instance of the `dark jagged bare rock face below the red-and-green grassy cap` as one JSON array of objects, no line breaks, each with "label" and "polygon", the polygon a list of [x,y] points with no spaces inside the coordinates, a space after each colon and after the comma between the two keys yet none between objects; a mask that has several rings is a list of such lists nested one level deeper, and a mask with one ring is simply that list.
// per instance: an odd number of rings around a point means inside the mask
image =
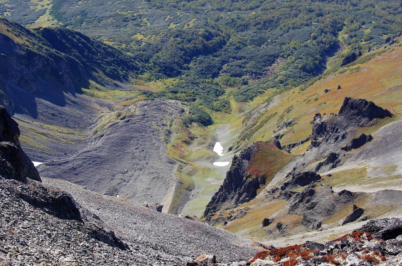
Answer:
[{"label": "dark jagged bare rock face below the red-and-green grassy cap", "polygon": [[[254,143],[250,148],[235,156],[226,178],[219,190],[212,196],[204,211],[204,216],[211,211],[232,208],[238,204],[246,203],[254,198],[260,186],[266,182],[266,173],[253,168],[250,163],[258,153],[263,152],[263,147],[280,150],[280,143],[273,140],[270,143]],[[260,154],[259,156],[267,156]],[[258,162],[259,164],[261,162]],[[269,166],[262,166],[269,167]]]}]

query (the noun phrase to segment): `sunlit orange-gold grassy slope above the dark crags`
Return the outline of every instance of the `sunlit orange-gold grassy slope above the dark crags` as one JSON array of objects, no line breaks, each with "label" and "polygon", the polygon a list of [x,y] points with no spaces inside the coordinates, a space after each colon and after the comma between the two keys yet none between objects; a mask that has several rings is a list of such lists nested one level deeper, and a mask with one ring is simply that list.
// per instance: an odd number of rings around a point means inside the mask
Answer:
[{"label": "sunlit orange-gold grassy slope above the dark crags", "polygon": [[336,72],[321,75],[303,91],[297,87],[269,98],[242,121],[245,129],[236,147],[275,136],[282,145],[304,140],[311,134],[314,115],[337,113],[345,97],[365,98],[391,108],[399,117],[402,112],[401,56],[402,44],[397,40],[393,45],[363,54]]}]

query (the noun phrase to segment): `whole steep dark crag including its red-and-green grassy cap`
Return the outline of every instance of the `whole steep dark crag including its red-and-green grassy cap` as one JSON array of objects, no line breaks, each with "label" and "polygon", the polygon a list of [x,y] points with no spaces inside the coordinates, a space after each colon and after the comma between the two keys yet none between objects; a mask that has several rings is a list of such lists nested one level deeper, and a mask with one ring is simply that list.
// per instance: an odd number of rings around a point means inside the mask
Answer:
[{"label": "whole steep dark crag including its red-and-green grassy cap", "polygon": [[232,208],[246,203],[257,195],[257,191],[271,180],[275,170],[280,169],[291,156],[281,151],[281,144],[256,142],[235,156],[224,183],[213,195],[205,208],[204,216],[211,211]]}]

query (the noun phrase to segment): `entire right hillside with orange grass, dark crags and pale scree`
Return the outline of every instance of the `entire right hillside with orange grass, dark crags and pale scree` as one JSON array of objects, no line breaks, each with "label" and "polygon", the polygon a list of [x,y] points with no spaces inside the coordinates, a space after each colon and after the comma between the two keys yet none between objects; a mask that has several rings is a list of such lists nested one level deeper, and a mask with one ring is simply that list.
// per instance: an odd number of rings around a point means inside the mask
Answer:
[{"label": "entire right hillside with orange grass, dark crags and pale scree", "polygon": [[[238,119],[244,125],[234,146],[239,159],[234,158],[224,185],[207,205],[206,221],[266,244],[283,245],[303,243],[306,237],[329,240],[366,219],[400,217],[399,41],[310,84],[269,97]],[[270,139],[279,139],[282,152],[293,156],[289,163],[275,161],[279,153],[253,148]],[[257,142],[247,147],[253,141]],[[252,156],[246,157],[249,152]],[[259,172],[250,171],[253,156],[267,156],[269,163],[260,167],[280,170],[273,177],[263,173],[271,181],[254,188],[246,203],[228,205],[221,190],[229,178],[240,175],[242,182],[250,183],[258,178]],[[246,188],[247,182],[230,193],[242,196],[253,191]]]}]

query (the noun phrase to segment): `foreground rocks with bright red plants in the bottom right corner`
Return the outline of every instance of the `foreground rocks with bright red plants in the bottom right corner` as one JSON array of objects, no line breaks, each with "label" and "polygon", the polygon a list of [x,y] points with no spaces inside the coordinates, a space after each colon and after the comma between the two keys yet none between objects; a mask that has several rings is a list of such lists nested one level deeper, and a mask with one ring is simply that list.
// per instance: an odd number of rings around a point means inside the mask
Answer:
[{"label": "foreground rocks with bright red plants in the bottom right corner", "polygon": [[283,248],[271,246],[247,262],[217,263],[215,256],[202,255],[187,266],[401,265],[401,226],[401,218],[376,219],[324,244],[306,241]]}]

